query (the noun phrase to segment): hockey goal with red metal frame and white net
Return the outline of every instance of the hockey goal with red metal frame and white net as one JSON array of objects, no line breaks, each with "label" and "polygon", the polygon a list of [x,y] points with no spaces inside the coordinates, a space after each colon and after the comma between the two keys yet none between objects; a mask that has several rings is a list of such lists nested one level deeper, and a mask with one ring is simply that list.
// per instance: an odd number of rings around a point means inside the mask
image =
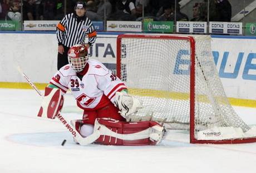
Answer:
[{"label": "hockey goal with red metal frame and white net", "polygon": [[190,143],[256,142],[229,104],[209,35],[119,35],[116,73],[142,101],[138,114],[190,130]]}]

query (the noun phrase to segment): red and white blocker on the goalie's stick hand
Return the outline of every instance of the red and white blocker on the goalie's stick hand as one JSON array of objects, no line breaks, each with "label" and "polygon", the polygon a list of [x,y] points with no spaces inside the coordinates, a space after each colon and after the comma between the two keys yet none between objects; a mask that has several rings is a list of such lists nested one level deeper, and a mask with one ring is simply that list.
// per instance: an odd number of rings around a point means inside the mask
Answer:
[{"label": "red and white blocker on the goalie's stick hand", "polygon": [[55,119],[63,106],[63,96],[61,90],[57,88],[45,88],[45,97],[43,98],[41,108],[37,116],[42,118]]}]

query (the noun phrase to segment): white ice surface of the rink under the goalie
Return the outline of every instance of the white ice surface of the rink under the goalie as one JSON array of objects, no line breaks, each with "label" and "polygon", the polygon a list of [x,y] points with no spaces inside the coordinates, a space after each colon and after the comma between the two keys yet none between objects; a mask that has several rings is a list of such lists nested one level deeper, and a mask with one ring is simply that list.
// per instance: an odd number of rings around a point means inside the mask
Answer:
[{"label": "white ice surface of the rink under the goalie", "polygon": [[[0,95],[1,173],[256,172],[256,143],[189,144],[188,131],[176,130],[159,146],[80,146],[57,120],[37,118],[41,98],[34,90],[0,89]],[[256,109],[235,111],[256,124]],[[81,118],[69,94],[62,115]]]}]

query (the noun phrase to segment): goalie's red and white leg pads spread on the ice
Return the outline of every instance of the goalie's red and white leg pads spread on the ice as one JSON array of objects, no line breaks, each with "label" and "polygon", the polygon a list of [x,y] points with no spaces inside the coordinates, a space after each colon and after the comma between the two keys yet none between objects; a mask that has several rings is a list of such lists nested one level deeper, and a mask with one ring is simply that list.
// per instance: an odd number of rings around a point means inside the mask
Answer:
[{"label": "goalie's red and white leg pads spread on the ice", "polygon": [[[71,124],[78,132],[84,125],[83,120],[73,120]],[[87,138],[94,138],[96,143],[103,145],[156,145],[163,139],[164,132],[164,127],[155,121],[125,122],[97,118],[93,133]]]}]

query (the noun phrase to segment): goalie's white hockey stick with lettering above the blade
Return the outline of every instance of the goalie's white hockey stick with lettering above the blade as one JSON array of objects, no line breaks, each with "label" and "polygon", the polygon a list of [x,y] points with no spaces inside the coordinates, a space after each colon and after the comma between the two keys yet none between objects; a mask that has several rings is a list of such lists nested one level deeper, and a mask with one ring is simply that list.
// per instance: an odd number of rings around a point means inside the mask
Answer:
[{"label": "goalie's white hockey stick with lettering above the blade", "polygon": [[[27,77],[27,75],[21,70],[21,68],[17,65],[17,70],[19,73],[21,73],[21,75],[24,77],[24,79],[27,80],[28,84],[31,85],[31,87],[36,90],[37,94],[40,95],[41,97],[43,97],[42,93],[40,90],[38,90],[35,86],[35,84],[33,84],[31,82],[31,80]],[[57,115],[58,120],[61,121],[61,124],[63,124],[65,126],[65,128],[67,128],[68,131],[70,131],[70,133],[72,134],[73,138],[76,139],[76,141],[80,144],[80,145],[88,145],[93,143],[94,141],[96,141],[99,137],[100,134],[99,133],[93,133],[90,136],[87,136],[86,138],[83,138],[80,133],[78,133],[78,131],[76,130],[76,128],[73,128],[72,125],[70,125],[68,123],[68,121],[65,120],[65,118],[63,116],[61,116],[60,113],[58,113]]]}]

